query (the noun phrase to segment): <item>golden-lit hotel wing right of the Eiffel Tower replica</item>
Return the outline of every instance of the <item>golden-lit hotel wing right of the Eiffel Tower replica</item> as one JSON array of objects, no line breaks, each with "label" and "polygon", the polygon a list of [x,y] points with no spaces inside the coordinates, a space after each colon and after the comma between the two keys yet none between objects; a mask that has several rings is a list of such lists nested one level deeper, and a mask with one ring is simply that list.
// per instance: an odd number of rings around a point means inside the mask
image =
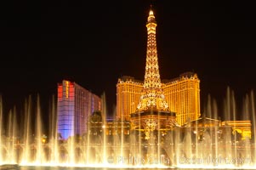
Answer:
[{"label": "golden-lit hotel wing right of the Eiffel Tower replica", "polygon": [[165,81],[162,88],[179,125],[200,117],[200,80],[196,73],[186,72],[174,80]]}]

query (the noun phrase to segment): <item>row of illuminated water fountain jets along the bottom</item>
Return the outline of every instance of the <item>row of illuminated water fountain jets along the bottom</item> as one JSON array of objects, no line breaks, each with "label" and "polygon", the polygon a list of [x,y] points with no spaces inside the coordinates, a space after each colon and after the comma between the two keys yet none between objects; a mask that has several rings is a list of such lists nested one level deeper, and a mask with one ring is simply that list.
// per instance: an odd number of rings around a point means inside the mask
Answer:
[{"label": "row of illuminated water fountain jets along the bottom", "polygon": [[[209,99],[210,100],[210,99]],[[206,111],[216,117],[217,105],[209,101]],[[236,117],[236,101],[233,92],[227,90],[225,111],[229,119]],[[0,98],[0,163],[19,166],[63,166],[63,167],[209,167],[209,168],[253,168],[255,167],[255,105],[253,92],[246,96],[243,115],[252,120],[252,139],[234,140],[234,131],[228,126],[202,128],[188,123],[185,127],[174,127],[162,136],[151,132],[145,141],[143,133],[131,132],[127,136],[116,135],[108,139],[105,127],[97,135],[73,136],[61,141],[56,133],[56,107],[53,99],[51,120],[42,121],[40,99],[32,110],[31,97],[25,102],[24,123],[17,122],[17,111],[9,111],[8,121],[3,120],[3,102]],[[104,113],[104,111],[103,111]],[[35,117],[35,120],[32,120]],[[99,115],[106,124],[105,113]],[[35,122],[35,127],[32,127]],[[198,122],[195,122],[198,123]],[[101,125],[102,125],[101,124]],[[100,125],[100,126],[101,126]],[[48,127],[47,127],[48,126]],[[123,124],[121,125],[123,131]],[[43,129],[52,129],[48,139]],[[221,133],[221,135],[219,134]],[[149,152],[149,150],[151,150]],[[151,153],[151,156],[148,154]]]}]

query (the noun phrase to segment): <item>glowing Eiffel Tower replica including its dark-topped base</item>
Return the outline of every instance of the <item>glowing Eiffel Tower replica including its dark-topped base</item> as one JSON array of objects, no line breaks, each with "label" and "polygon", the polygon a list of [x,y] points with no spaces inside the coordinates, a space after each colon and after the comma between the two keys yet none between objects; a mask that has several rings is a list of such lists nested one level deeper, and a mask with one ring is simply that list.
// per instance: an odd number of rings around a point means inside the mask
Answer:
[{"label": "glowing Eiffel Tower replica including its dark-topped base", "polygon": [[165,100],[159,74],[156,50],[156,19],[151,8],[147,27],[145,79],[139,105],[131,114],[131,129],[144,133],[145,139],[156,138],[154,133],[166,133],[175,125],[175,113]]}]

